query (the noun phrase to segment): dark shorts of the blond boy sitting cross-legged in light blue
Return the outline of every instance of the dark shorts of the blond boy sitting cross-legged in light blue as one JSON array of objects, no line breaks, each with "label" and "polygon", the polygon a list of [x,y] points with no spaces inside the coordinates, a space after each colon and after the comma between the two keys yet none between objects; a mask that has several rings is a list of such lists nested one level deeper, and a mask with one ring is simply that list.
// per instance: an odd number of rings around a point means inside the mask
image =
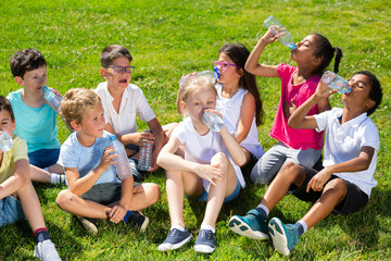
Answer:
[{"label": "dark shorts of the blond boy sitting cross-legged in light blue", "polygon": [[[134,187],[136,187],[137,185],[139,185],[139,183],[135,183]],[[92,186],[90,190],[85,192],[80,198],[108,206],[119,201],[121,196],[121,183],[101,183]]]}]

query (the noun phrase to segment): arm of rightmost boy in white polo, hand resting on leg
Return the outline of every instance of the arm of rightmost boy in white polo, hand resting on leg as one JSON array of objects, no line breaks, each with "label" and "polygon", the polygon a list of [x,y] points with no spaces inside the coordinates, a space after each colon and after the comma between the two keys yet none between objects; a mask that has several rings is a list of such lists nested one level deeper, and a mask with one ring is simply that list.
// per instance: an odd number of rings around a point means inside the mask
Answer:
[{"label": "arm of rightmost boy in white polo, hand resting on leg", "polygon": [[325,183],[330,178],[331,174],[333,173],[352,172],[352,175],[354,175],[354,173],[356,172],[367,170],[370,165],[374,153],[375,149],[373,147],[363,146],[357,158],[342,163],[326,166],[315,176],[313,176],[313,178],[311,178],[306,187],[306,191],[310,191],[310,189],[313,189],[314,191],[321,191]]}]

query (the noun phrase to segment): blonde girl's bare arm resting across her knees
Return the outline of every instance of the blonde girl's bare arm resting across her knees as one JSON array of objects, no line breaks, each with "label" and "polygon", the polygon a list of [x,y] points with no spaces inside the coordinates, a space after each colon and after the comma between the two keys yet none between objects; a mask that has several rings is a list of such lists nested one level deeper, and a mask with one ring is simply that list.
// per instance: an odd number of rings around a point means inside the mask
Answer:
[{"label": "blonde girl's bare arm resting across her knees", "polygon": [[166,171],[195,173],[201,178],[209,181],[213,186],[216,186],[213,179],[217,178],[219,181],[224,181],[224,174],[220,169],[210,164],[200,164],[187,161],[180,156],[175,154],[179,146],[180,141],[172,136],[160,152],[157,157],[157,164]]}]

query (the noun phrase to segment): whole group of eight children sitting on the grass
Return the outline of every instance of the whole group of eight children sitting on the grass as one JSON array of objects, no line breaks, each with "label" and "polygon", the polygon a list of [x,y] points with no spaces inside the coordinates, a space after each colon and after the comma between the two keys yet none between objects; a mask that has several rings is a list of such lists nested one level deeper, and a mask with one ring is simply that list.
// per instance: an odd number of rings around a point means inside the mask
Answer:
[{"label": "whole group of eight children sitting on the grass", "polygon": [[[283,254],[330,213],[350,214],[364,208],[376,186],[379,136],[368,116],[381,102],[380,83],[367,71],[353,74],[351,92],[342,95],[343,108],[331,109],[328,97],[337,90],[326,86],[320,75],[333,58],[333,71],[338,72],[341,50],[325,36],[314,34],[291,51],[297,66],[260,64],[264,48],[280,36],[268,30],[251,53],[242,45],[226,44],[215,61],[217,83],[188,76],[177,98],[178,111],[186,117],[163,127],[142,90],[130,84],[135,67],[129,51],[109,46],[101,52],[100,74],[105,82],[94,90],[77,88],[64,94],[61,116],[72,134],[63,145],[58,139],[56,113],[42,96],[46,60],[35,49],[14,53],[11,71],[23,88],[0,97],[0,132],[13,140],[11,150],[0,151],[0,226],[27,219],[36,241],[35,256],[60,260],[34,181],[66,184],[68,188],[58,195],[58,206],[76,215],[93,234],[98,233],[98,220],[125,222],[144,231],[149,219],[140,211],[161,197],[156,184],[136,182],[142,179],[137,161],[146,139],[153,140],[149,171],[161,166],[166,173],[172,226],[157,247],[161,251],[177,249],[192,237],[184,219],[187,195],[206,201],[194,250],[213,252],[219,211],[245,187],[243,174],[269,186],[255,209],[232,216],[228,225],[253,239],[270,236]],[[263,108],[255,75],[281,79],[270,132],[278,142],[266,153],[257,140]],[[201,120],[204,112],[222,117],[223,128],[212,132]],[[150,133],[137,132],[137,115],[147,122]],[[125,146],[135,178],[118,179],[112,135]],[[313,207],[295,224],[285,224],[278,217],[267,223],[269,211],[288,192],[314,202]]]}]

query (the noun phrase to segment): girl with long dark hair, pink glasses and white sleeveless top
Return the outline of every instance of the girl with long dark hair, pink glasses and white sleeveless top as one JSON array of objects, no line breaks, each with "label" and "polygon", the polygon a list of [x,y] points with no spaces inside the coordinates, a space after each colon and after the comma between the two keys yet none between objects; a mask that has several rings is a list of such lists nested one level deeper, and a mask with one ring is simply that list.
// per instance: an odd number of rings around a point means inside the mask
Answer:
[{"label": "girl with long dark hair, pink glasses and white sleeveless top", "polygon": [[[216,110],[225,116],[236,130],[236,140],[245,153],[244,165],[250,170],[264,154],[257,140],[257,126],[263,121],[262,100],[255,76],[244,70],[250,51],[240,44],[225,44],[218,53],[217,66],[219,77],[215,85],[217,90]],[[179,90],[178,112],[181,113]]]}]

